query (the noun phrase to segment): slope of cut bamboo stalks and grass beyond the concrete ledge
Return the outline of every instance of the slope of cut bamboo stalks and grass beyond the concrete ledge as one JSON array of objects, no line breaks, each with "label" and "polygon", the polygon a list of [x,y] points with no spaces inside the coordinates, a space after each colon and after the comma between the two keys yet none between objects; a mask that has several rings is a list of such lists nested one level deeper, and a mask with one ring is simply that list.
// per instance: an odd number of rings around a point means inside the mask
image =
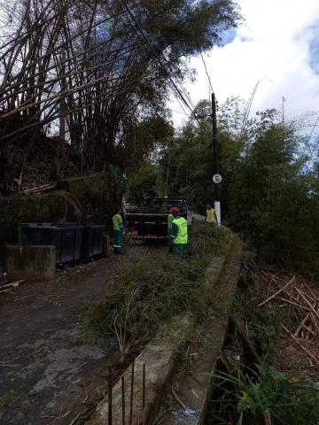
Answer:
[{"label": "slope of cut bamboo stalks and grass beyond the concrete ledge", "polygon": [[318,290],[285,270],[251,272],[206,424],[318,425]]}]

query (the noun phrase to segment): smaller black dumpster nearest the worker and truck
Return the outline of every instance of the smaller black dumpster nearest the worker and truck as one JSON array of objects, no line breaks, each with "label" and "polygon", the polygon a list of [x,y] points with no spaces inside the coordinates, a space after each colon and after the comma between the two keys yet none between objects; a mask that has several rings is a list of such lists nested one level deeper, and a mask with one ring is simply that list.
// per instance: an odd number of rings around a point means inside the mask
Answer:
[{"label": "smaller black dumpster nearest the worker and truck", "polygon": [[81,259],[88,261],[103,253],[103,234],[105,226],[86,226],[82,232]]}]

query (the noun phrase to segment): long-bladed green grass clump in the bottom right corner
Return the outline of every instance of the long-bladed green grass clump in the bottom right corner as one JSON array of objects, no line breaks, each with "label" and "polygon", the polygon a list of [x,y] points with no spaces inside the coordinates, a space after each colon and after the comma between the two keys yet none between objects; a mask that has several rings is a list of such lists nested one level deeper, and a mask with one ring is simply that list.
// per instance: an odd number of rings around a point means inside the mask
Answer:
[{"label": "long-bladed green grass clump in the bottom right corner", "polygon": [[274,425],[316,425],[319,421],[316,384],[295,383],[274,367],[265,366],[237,369],[236,375],[220,372],[214,378],[229,406],[235,406],[235,418],[224,421],[220,412],[214,412],[207,422],[211,425],[260,425],[266,410]]}]

